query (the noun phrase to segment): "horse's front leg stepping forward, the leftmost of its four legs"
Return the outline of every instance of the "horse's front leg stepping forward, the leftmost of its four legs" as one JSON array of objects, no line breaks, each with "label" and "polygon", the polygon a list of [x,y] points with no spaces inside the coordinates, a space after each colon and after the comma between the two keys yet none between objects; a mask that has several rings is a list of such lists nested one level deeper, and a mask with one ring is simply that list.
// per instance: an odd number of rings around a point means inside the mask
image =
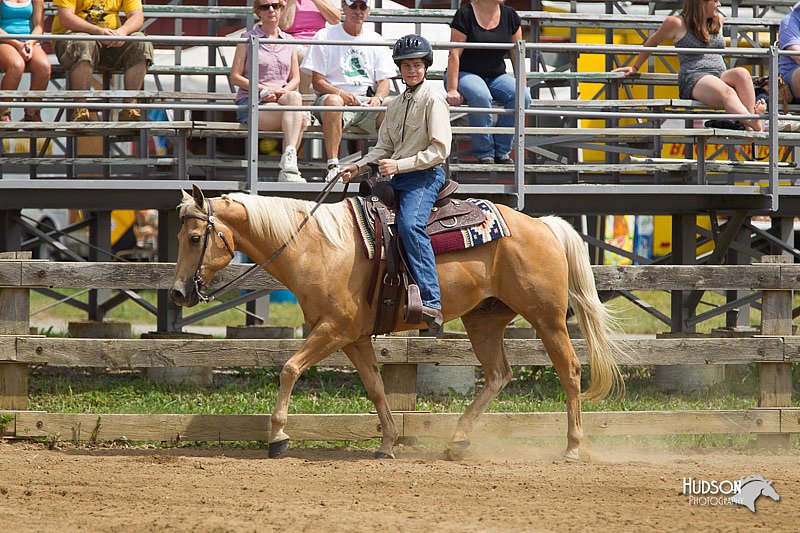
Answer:
[{"label": "horse's front leg stepping forward, the leftmost of its four legs", "polygon": [[286,434],[284,428],[289,416],[289,399],[294,384],[308,367],[319,363],[346,343],[335,336],[333,331],[335,328],[330,326],[315,326],[300,350],[283,365],[278,400],[275,402],[275,409],[270,418],[268,452],[270,457],[279,457],[289,446],[289,435]]}]

